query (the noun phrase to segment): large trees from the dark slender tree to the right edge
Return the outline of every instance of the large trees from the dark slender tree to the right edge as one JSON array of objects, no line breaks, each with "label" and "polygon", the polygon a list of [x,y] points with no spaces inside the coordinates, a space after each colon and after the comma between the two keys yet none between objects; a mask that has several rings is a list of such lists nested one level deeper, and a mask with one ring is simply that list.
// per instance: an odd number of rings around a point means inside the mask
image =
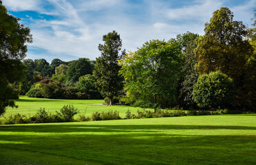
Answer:
[{"label": "large trees from the dark slender tree to the right edge", "polygon": [[[94,72],[98,89],[111,100],[118,90],[122,93],[118,85],[123,83],[122,100],[155,109],[179,105],[255,110],[255,28],[248,29],[233,17],[231,10],[220,8],[205,24],[203,36],[187,32],[169,41],[153,40],[123,56],[108,52],[120,50],[120,39],[103,37],[105,47],[100,46],[103,54],[96,59]],[[107,77],[101,80],[102,76]]]}]

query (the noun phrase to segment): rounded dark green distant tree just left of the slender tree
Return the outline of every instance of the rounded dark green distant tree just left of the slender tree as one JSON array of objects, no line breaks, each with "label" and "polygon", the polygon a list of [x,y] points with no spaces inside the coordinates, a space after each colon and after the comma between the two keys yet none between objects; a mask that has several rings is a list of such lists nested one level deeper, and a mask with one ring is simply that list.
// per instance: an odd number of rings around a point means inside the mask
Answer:
[{"label": "rounded dark green distant tree just left of the slender tree", "polygon": [[92,74],[92,69],[93,66],[88,58],[79,58],[77,61],[72,61],[70,67],[67,69],[67,80],[76,83],[81,76]]}]

